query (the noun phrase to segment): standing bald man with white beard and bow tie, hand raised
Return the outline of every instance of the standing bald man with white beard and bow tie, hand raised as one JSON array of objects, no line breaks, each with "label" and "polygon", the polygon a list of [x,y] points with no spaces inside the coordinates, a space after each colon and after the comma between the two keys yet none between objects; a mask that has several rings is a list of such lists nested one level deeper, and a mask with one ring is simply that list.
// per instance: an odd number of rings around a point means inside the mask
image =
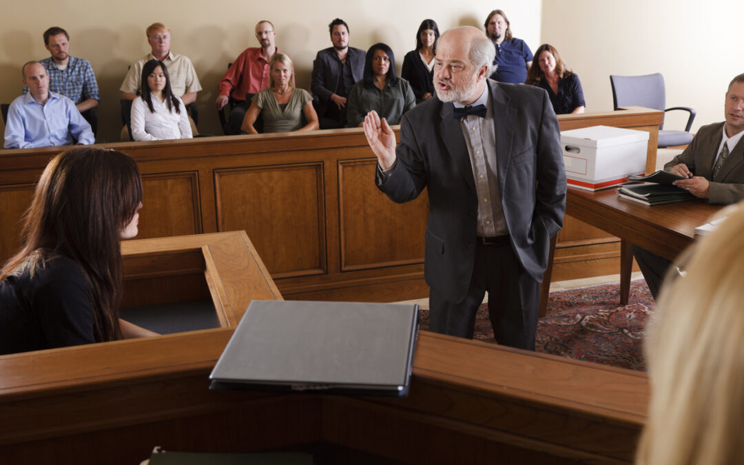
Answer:
[{"label": "standing bald man with white beard and bow tie, hand raised", "polygon": [[364,127],[388,197],[407,202],[428,188],[429,329],[472,337],[488,291],[498,343],[534,350],[565,169],[548,94],[488,80],[494,53],[476,28],[446,32],[434,65],[437,96],[403,116],[400,144],[375,112]]}]

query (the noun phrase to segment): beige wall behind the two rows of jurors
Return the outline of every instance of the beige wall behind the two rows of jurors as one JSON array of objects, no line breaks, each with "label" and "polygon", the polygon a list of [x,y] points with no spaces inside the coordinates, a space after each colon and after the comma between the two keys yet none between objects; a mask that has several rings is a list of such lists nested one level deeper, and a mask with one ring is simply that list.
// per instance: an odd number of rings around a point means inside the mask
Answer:
[{"label": "beige wall behind the two rows of jurors", "polygon": [[144,28],[164,22],[172,30],[173,51],[191,58],[204,88],[198,96],[199,128],[221,135],[214,111],[217,83],[229,61],[246,47],[257,45],[254,25],[260,19],[274,23],[278,47],[295,60],[298,86],[309,89],[312,60],[319,49],[330,46],[327,24],[337,16],[350,26],[351,45],[366,49],[375,42],[388,43],[400,73],[403,55],[414,48],[416,30],[426,17],[437,21],[444,31],[456,25],[481,25],[490,10],[501,7],[509,14],[516,35],[532,46],[540,36],[541,4],[542,0],[509,0],[498,5],[484,0],[40,0],[31,7],[22,1],[4,1],[0,102],[9,103],[20,94],[21,65],[48,56],[42,32],[59,25],[71,35],[71,54],[90,60],[96,73],[102,99],[99,139],[118,140],[118,88],[126,66],[150,51]]}]

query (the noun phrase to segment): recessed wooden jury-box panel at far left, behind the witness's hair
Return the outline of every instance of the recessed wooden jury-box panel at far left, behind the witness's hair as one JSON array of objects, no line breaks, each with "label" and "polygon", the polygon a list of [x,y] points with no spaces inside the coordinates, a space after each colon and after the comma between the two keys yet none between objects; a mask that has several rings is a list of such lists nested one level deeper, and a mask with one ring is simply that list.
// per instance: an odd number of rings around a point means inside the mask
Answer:
[{"label": "recessed wooden jury-box panel at far left, behind the witness's hair", "polygon": [[31,205],[34,184],[0,186],[0,261],[21,247],[22,217]]}]

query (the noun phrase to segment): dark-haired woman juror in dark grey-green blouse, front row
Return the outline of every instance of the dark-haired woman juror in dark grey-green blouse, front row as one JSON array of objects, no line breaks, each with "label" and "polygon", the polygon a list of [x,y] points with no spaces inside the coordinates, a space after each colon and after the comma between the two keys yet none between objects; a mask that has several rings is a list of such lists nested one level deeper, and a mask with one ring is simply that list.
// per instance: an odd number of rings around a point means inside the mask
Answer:
[{"label": "dark-haired woman juror in dark grey-green blouse, front row", "polygon": [[393,51],[383,43],[372,45],[365,57],[364,77],[351,88],[346,102],[349,127],[362,126],[372,110],[388,124],[400,124],[403,113],[414,106],[416,97],[411,85],[395,75]]}]

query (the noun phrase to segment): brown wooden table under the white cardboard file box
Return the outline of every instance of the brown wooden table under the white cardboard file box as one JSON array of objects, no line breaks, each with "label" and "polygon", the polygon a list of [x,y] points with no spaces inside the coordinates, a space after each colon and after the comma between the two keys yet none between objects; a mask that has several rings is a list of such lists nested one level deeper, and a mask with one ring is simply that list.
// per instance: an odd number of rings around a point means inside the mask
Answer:
[{"label": "brown wooden table under the white cardboard file box", "polygon": [[633,262],[629,244],[674,260],[694,242],[695,228],[721,208],[702,199],[650,207],[620,199],[615,189],[587,192],[568,187],[565,212],[620,237],[620,304],[624,305]]}]

